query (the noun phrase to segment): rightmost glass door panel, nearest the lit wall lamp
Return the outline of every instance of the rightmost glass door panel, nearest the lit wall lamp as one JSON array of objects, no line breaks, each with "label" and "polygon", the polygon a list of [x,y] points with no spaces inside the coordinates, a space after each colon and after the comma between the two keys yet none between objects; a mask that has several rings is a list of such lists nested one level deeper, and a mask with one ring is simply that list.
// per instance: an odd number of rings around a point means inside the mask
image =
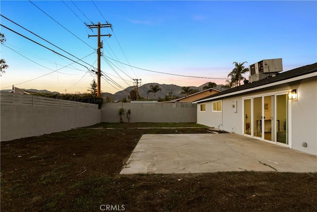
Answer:
[{"label": "rightmost glass door panel, nearest the lit wall lamp", "polygon": [[288,99],[287,95],[276,95],[276,141],[288,144]]}]

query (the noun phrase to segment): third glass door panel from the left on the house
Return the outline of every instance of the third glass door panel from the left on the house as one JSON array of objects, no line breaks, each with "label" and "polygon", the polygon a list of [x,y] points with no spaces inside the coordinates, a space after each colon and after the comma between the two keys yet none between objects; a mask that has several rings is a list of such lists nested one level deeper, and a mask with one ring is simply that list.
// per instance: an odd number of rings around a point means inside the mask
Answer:
[{"label": "third glass door panel from the left on the house", "polygon": [[264,139],[267,141],[274,141],[274,96],[264,96]]}]

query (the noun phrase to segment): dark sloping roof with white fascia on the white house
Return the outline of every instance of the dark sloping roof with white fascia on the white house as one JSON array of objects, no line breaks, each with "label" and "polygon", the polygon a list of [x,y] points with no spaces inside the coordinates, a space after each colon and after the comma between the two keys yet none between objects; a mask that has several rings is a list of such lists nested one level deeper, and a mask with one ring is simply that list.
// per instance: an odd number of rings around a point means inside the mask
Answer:
[{"label": "dark sloping roof with white fascia on the white house", "polygon": [[206,102],[218,98],[223,98],[227,96],[238,95],[240,93],[245,93],[253,90],[258,90],[274,85],[283,84],[290,81],[295,81],[303,78],[309,78],[317,76],[317,63],[296,68],[290,71],[285,71],[281,73],[276,73],[275,76],[268,77],[259,81],[252,83],[243,84],[237,87],[233,87],[222,92],[210,95],[208,97],[199,99],[194,103]]}]

